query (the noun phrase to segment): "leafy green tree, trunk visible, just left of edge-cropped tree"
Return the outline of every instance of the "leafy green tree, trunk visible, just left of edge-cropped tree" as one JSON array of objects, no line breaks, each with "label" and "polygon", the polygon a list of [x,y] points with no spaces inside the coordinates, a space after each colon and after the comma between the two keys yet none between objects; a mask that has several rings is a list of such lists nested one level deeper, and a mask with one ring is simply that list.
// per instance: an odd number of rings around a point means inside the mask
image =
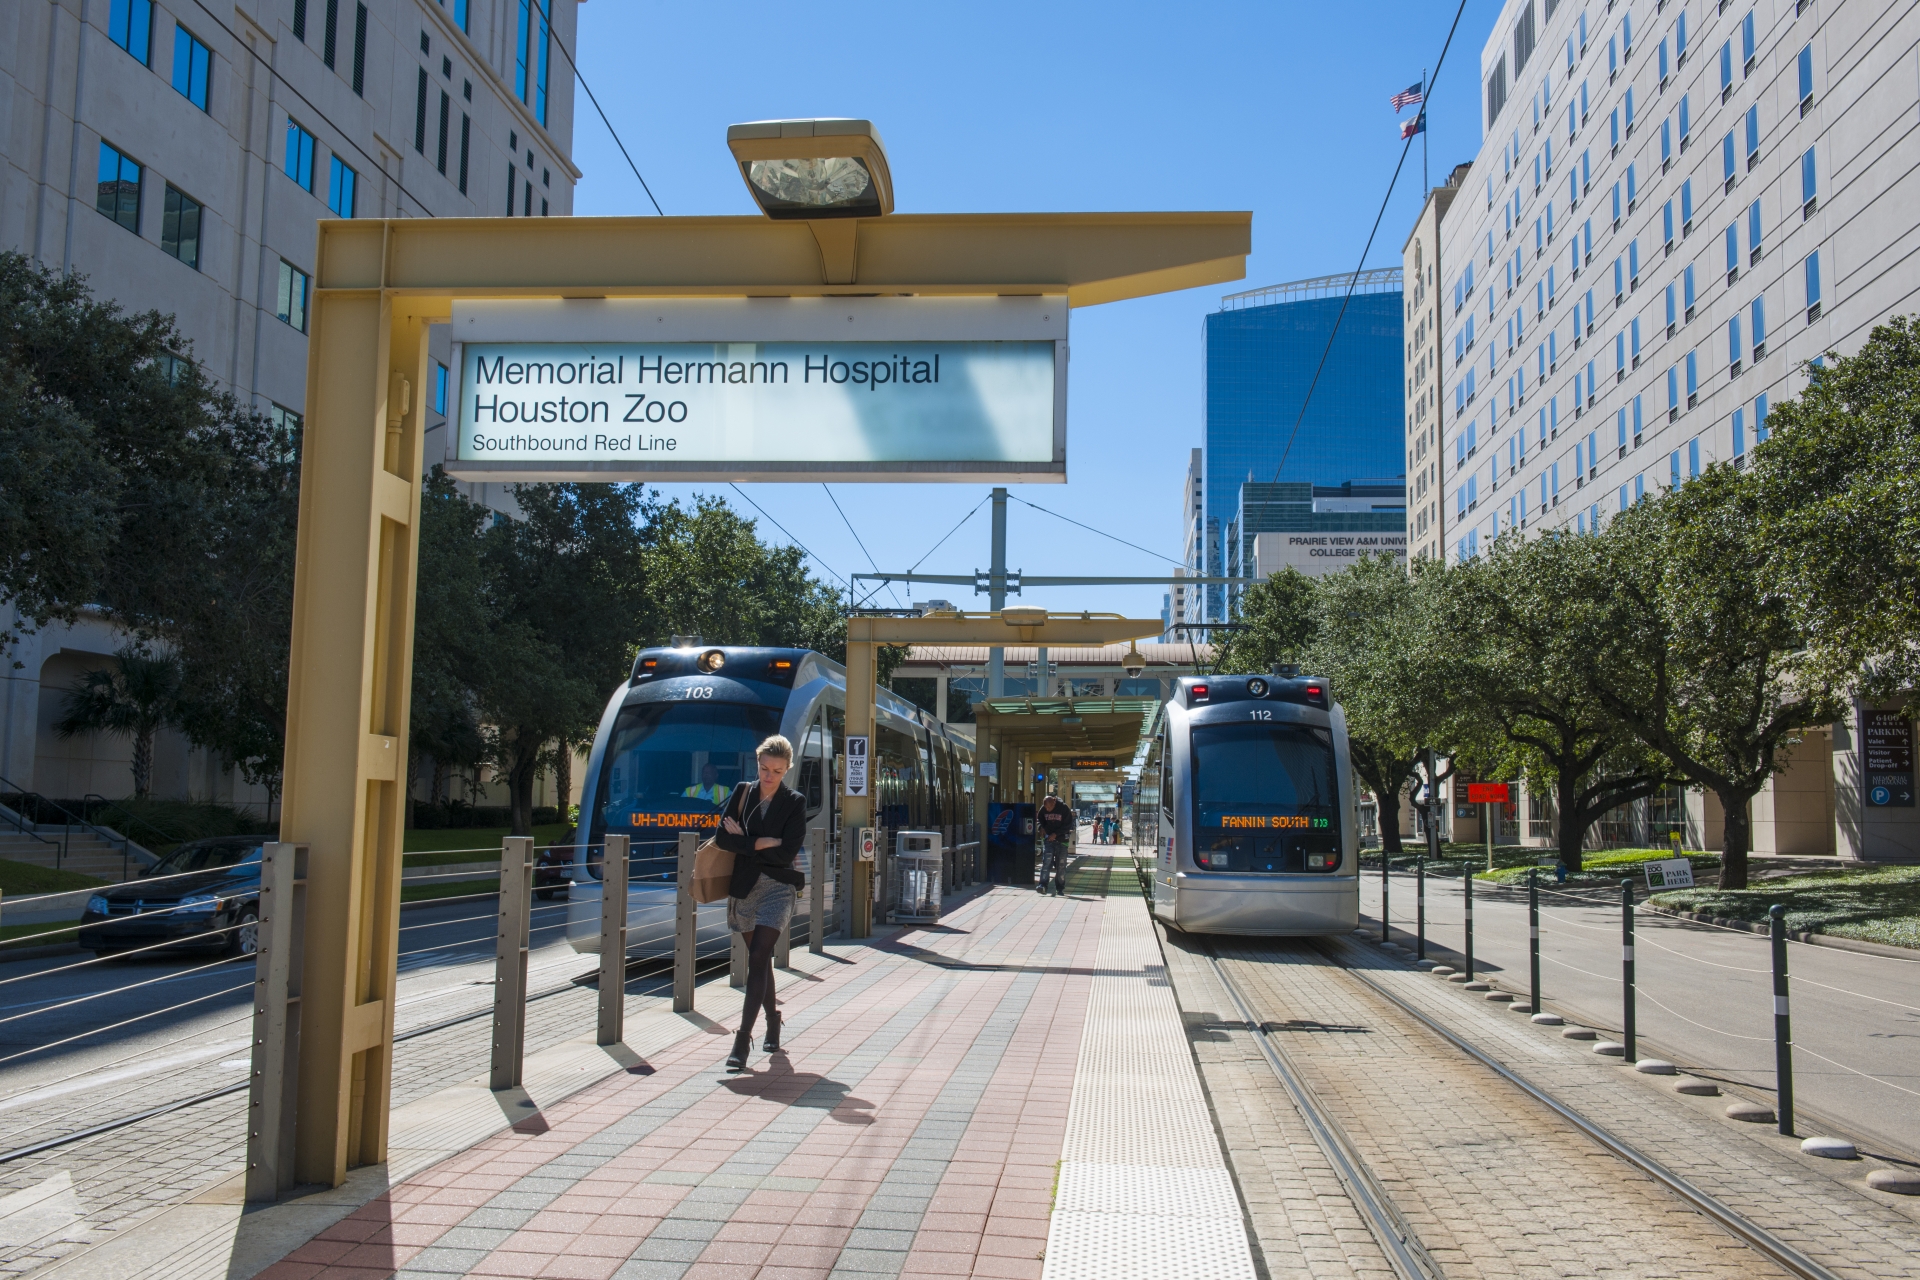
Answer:
[{"label": "leafy green tree, trunk visible, just left of edge-cropped tree", "polygon": [[1753,796],[1843,702],[1801,656],[1761,537],[1759,491],[1732,466],[1620,512],[1594,539],[1580,626],[1594,697],[1724,814],[1720,887],[1747,887]]}]

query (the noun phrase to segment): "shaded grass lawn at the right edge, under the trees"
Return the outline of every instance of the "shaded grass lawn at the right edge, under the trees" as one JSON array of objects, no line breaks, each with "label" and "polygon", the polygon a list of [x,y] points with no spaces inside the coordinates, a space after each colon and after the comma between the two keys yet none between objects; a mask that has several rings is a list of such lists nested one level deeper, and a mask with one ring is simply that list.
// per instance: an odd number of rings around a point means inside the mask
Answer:
[{"label": "shaded grass lawn at the right edge, under the trees", "polygon": [[1763,889],[1676,889],[1653,906],[1763,923],[1788,908],[1788,929],[1920,948],[1920,867],[1834,867],[1766,881]]}]

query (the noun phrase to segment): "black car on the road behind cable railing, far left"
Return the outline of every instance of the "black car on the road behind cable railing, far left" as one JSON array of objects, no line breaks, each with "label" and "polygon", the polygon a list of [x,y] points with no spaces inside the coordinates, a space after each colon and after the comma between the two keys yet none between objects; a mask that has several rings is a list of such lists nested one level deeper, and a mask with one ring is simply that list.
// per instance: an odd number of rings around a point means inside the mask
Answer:
[{"label": "black car on the road behind cable railing, far left", "polygon": [[142,946],[252,956],[259,950],[261,846],[273,839],[230,835],[180,844],[140,879],[86,900],[81,946],[96,956]]}]

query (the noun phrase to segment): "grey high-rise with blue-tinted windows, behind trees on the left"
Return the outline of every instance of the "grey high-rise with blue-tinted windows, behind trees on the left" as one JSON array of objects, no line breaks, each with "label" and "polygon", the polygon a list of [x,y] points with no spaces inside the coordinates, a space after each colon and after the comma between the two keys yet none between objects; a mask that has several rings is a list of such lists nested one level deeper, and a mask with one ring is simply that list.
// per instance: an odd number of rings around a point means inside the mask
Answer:
[{"label": "grey high-rise with blue-tinted windows, behind trees on the left", "polygon": [[[576,0],[52,0],[8,31],[0,246],[175,315],[182,357],[282,420],[305,407],[317,219],[574,207]],[[444,328],[434,351],[424,395],[444,424]],[[511,509],[497,489],[470,486]],[[127,791],[125,741],[60,739],[42,697],[121,639],[86,620],[21,639],[0,674],[0,775],[50,796]],[[156,791],[250,798],[171,731]]]}]

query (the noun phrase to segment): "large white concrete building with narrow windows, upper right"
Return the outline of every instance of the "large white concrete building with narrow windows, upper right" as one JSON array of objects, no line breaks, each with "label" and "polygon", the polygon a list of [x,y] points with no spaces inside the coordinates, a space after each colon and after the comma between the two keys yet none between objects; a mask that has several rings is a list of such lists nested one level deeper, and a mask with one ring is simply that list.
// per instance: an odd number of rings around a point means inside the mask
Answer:
[{"label": "large white concrete building with narrow windows, upper right", "polygon": [[[1446,555],[1738,462],[1809,361],[1916,307],[1916,50],[1893,0],[1507,0],[1440,221]],[[1914,810],[1859,804],[1851,739],[1799,748],[1757,848],[1920,856]]]}]

